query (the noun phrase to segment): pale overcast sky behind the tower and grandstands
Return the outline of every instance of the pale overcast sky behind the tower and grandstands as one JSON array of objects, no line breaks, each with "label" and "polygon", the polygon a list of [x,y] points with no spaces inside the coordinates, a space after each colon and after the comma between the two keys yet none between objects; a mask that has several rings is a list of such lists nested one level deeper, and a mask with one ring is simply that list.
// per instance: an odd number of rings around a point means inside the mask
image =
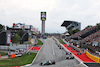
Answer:
[{"label": "pale overcast sky behind the tower and grandstands", "polygon": [[25,23],[41,31],[42,11],[46,33],[64,33],[64,20],[80,22],[81,29],[100,23],[100,0],[0,0],[0,24]]}]

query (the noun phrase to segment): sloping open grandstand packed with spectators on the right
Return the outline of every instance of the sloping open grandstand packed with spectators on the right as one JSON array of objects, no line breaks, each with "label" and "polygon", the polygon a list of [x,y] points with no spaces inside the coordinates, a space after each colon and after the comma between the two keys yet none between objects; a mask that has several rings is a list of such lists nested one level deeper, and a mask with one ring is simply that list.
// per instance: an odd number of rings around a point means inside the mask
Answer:
[{"label": "sloping open grandstand packed with spectators on the right", "polygon": [[73,43],[74,46],[81,49],[88,49],[88,51],[100,57],[100,29],[99,25],[85,28],[69,37],[66,37],[66,41]]}]

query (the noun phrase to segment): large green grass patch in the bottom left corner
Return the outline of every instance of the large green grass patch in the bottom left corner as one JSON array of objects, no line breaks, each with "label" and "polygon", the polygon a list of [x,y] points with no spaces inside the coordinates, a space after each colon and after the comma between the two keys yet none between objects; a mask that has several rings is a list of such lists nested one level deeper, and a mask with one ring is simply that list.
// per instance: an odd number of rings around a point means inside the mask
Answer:
[{"label": "large green grass patch in the bottom left corner", "polygon": [[36,53],[31,53],[31,55],[25,54],[22,57],[0,60],[0,67],[23,66],[30,64],[32,63],[35,56]]}]

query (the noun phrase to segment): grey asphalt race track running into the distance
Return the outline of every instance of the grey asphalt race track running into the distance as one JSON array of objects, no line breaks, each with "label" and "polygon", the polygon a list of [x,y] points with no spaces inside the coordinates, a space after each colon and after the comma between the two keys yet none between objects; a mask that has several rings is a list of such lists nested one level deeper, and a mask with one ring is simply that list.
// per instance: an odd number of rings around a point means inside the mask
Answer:
[{"label": "grey asphalt race track running into the distance", "polygon": [[[79,64],[76,59],[66,60],[66,52],[59,49],[52,38],[43,40],[44,46],[41,49],[34,64],[30,67],[74,67]],[[55,60],[55,65],[40,66],[41,62]]]}]

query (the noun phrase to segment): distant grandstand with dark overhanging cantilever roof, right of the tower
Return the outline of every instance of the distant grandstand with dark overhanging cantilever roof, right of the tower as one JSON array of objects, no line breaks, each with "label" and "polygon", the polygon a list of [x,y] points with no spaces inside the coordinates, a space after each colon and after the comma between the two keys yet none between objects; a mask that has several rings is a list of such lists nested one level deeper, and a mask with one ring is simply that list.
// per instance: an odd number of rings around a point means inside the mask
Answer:
[{"label": "distant grandstand with dark overhanging cantilever roof, right of the tower", "polygon": [[76,21],[64,21],[61,26],[65,27],[67,30],[62,35],[64,38],[65,36],[72,35],[81,30],[81,23]]}]

